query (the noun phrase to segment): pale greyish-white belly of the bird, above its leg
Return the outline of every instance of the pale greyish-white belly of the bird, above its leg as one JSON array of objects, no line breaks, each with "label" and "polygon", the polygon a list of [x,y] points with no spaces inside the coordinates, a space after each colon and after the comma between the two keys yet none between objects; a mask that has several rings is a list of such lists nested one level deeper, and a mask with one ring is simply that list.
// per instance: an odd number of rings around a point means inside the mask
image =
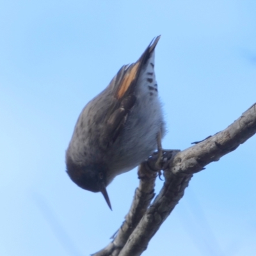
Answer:
[{"label": "pale greyish-white belly of the bird, above its leg", "polygon": [[120,140],[112,145],[109,169],[119,175],[145,161],[157,149],[157,135],[164,136],[163,113],[159,99],[144,100],[132,109]]}]

